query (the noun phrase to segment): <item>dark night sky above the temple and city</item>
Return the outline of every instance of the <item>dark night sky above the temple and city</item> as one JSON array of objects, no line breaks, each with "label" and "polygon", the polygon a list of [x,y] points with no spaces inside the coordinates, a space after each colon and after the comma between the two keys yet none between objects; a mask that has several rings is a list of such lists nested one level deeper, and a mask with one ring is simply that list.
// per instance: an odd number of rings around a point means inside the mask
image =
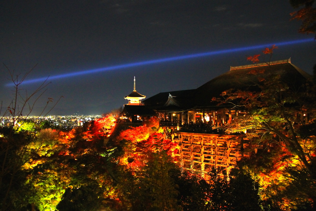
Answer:
[{"label": "dark night sky above the temple and city", "polygon": [[[290,21],[289,2],[103,0],[2,1],[0,3],[0,84],[3,107],[12,99],[8,71],[27,79],[55,76],[138,61],[245,46],[313,38]],[[272,60],[288,59],[312,74],[316,41],[279,46]],[[269,47],[269,45],[267,45]],[[51,84],[34,108],[47,98],[64,98],[51,115],[102,114],[127,101],[136,76],[137,92],[147,98],[167,91],[194,89],[246,65],[254,49],[230,54],[103,71]],[[40,83],[25,84],[31,93]]]}]

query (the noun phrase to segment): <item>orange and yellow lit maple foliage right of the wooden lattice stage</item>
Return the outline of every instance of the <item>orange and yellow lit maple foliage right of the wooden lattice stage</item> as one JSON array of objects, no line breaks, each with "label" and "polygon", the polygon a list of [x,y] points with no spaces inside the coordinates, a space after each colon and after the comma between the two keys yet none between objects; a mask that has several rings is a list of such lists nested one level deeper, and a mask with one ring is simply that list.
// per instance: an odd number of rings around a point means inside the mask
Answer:
[{"label": "orange and yellow lit maple foliage right of the wooden lattice stage", "polygon": [[[263,55],[270,59],[275,48],[265,49]],[[255,55],[248,60],[256,63],[259,58]],[[305,83],[295,83],[297,78],[289,82],[271,71],[269,65],[248,74],[258,78],[252,88],[227,90],[222,93],[221,102],[247,111],[225,126],[227,132],[246,131],[252,148],[256,148],[256,154],[243,158],[244,166],[240,168],[250,170],[258,178],[262,198],[271,200],[273,206],[296,209],[314,202],[316,195],[310,190],[316,188],[316,87],[312,78]],[[298,191],[301,182],[308,185]],[[293,189],[296,194],[290,191]]]}]

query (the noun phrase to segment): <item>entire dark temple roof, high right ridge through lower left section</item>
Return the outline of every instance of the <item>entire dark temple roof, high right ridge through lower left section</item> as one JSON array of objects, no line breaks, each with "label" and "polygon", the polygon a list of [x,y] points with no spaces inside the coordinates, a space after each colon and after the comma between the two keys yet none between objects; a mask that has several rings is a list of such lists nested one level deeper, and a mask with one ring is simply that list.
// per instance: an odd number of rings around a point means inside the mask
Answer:
[{"label": "entire dark temple roof, high right ridge through lower left section", "polygon": [[[286,82],[292,89],[299,87],[311,75],[291,64],[290,60],[273,61],[270,64],[252,64],[231,67],[230,71],[208,81],[197,89],[180,90],[158,93],[146,100],[144,105],[155,106],[157,111],[184,111],[192,108],[217,107],[213,97],[220,97],[223,91],[228,89],[241,89],[255,91],[255,84],[262,83],[258,78],[268,78],[269,74],[280,75],[281,80]],[[173,97],[170,98],[169,96]]]}]

